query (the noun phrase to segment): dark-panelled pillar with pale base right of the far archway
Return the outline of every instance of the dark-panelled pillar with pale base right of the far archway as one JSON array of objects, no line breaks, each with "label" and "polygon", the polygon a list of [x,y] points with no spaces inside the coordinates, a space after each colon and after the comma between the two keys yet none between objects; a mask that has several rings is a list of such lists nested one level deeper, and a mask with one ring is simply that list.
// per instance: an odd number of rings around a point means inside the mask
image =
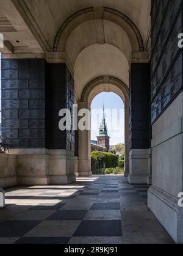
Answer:
[{"label": "dark-panelled pillar with pale base right of the far archway", "polygon": [[129,182],[147,184],[149,180],[149,64],[131,65],[129,102]]}]

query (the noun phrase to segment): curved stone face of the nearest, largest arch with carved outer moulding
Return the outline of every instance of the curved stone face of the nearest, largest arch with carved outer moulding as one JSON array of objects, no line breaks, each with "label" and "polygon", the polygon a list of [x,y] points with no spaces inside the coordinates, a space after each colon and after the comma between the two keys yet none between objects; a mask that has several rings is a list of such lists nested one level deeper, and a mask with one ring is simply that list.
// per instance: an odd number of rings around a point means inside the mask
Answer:
[{"label": "curved stone face of the nearest, largest arch with carved outer moulding", "polygon": [[143,38],[138,27],[128,16],[109,7],[101,7],[99,10],[95,10],[95,7],[89,7],[74,13],[60,26],[54,40],[53,51],[65,51],[65,45],[71,32],[79,24],[93,19],[109,20],[118,24],[118,26],[121,26],[126,31],[126,34],[130,38],[133,51],[142,52],[145,50]]}]

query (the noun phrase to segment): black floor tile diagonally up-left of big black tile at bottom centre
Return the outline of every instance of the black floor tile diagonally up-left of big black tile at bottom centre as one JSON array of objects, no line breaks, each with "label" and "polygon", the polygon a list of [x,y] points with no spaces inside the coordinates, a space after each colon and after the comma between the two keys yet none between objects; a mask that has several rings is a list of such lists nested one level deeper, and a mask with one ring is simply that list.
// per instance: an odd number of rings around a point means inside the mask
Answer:
[{"label": "black floor tile diagonally up-left of big black tile at bottom centre", "polygon": [[85,215],[87,214],[87,212],[88,211],[84,211],[84,210],[73,210],[73,211],[60,210],[60,211],[56,211],[56,213],[49,216],[47,220],[49,221],[62,221],[62,220],[82,221]]}]

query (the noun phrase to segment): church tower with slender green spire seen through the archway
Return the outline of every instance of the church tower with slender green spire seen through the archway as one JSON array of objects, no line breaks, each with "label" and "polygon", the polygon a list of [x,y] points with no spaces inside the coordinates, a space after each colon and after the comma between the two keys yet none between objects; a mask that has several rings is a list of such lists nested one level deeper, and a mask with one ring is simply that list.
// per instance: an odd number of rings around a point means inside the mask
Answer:
[{"label": "church tower with slender green spire seen through the archway", "polygon": [[110,150],[110,137],[107,134],[107,124],[104,113],[104,104],[103,104],[103,119],[99,127],[99,136],[97,137],[98,145],[106,147],[107,150]]}]

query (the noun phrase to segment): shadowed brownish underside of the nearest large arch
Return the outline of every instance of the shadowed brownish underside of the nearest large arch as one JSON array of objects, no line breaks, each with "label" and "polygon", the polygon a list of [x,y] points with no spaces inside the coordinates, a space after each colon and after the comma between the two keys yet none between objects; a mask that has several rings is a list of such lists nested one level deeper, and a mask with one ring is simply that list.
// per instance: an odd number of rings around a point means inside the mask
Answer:
[{"label": "shadowed brownish underside of the nearest large arch", "polygon": [[[74,47],[73,47],[74,44]],[[89,20],[77,26],[68,37],[65,52],[74,67],[77,56],[90,45],[113,45],[131,62],[132,45],[124,29],[108,20]]]}]

